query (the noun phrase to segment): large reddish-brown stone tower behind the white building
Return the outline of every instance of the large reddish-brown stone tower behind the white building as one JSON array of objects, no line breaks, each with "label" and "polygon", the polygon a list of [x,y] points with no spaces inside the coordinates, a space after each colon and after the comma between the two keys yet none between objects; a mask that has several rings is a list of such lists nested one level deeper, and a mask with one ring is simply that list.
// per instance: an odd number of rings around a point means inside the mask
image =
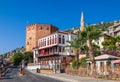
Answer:
[{"label": "large reddish-brown stone tower behind the white building", "polygon": [[32,51],[38,46],[38,39],[49,35],[58,28],[50,24],[32,24],[26,27],[26,51]]}]

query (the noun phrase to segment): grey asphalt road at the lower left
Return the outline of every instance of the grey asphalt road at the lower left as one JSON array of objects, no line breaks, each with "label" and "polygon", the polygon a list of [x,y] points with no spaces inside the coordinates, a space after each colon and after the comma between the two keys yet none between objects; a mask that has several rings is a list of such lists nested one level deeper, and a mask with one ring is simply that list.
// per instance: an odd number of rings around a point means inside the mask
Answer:
[{"label": "grey asphalt road at the lower left", "polygon": [[25,75],[21,76],[19,74],[19,67],[11,66],[9,69],[10,71],[0,78],[0,82],[63,82],[45,76],[38,76],[27,70],[25,70]]}]

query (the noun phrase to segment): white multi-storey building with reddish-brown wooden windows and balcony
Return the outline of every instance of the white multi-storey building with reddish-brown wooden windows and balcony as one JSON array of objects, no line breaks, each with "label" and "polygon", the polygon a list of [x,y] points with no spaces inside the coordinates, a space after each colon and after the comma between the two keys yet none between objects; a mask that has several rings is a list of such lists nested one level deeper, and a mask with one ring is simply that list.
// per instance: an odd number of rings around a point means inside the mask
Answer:
[{"label": "white multi-storey building with reddish-brown wooden windows and balcony", "polygon": [[76,34],[55,32],[38,40],[38,48],[34,49],[34,63],[40,63],[41,68],[64,69],[75,56],[70,50],[68,41],[76,38]]}]

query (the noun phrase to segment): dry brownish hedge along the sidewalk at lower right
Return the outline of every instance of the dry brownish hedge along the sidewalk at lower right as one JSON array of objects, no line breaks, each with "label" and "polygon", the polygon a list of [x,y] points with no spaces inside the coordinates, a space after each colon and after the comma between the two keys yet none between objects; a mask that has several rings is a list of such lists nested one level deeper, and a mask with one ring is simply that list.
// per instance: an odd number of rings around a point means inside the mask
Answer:
[{"label": "dry brownish hedge along the sidewalk at lower right", "polygon": [[111,68],[108,68],[108,74],[109,75],[99,75],[96,70],[93,71],[93,74],[90,74],[90,70],[87,70],[87,68],[80,67],[79,69],[74,69],[71,67],[66,68],[66,74],[68,75],[75,75],[75,76],[88,76],[88,77],[94,77],[94,78],[100,78],[100,79],[109,79],[109,80],[120,80],[120,66],[115,70],[115,72],[112,72]]}]

